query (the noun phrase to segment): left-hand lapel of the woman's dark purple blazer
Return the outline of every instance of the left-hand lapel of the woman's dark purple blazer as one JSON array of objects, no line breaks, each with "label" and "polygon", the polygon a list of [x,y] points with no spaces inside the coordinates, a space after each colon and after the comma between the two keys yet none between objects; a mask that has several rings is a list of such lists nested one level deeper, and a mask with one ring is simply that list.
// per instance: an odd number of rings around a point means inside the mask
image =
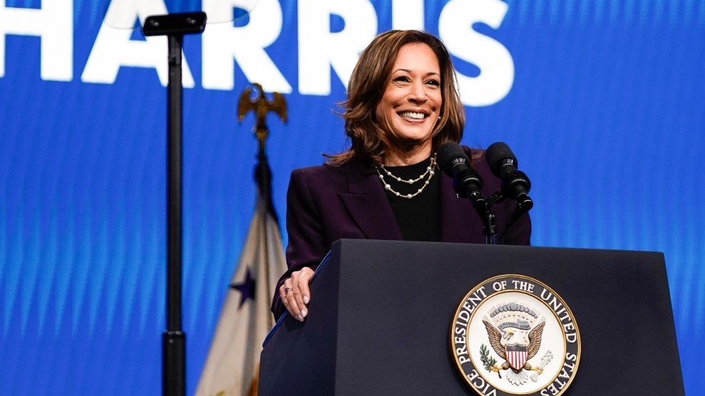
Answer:
[{"label": "left-hand lapel of the woman's dark purple blazer", "polygon": [[339,196],[366,238],[401,241],[401,229],[377,174],[351,166],[347,175],[349,194]]}]

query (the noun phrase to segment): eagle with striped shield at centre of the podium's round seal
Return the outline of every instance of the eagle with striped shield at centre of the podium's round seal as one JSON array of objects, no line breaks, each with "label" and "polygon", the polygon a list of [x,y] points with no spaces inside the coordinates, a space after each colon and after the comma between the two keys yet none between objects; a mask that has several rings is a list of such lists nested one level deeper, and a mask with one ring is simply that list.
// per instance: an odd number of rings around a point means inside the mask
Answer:
[{"label": "eagle with striped shield at centre of the podium's round seal", "polygon": [[[543,327],[546,324],[545,321],[541,321],[541,323],[530,331],[528,340],[526,337],[521,336],[518,337],[520,338],[519,340],[513,340],[515,335],[513,330],[499,330],[486,319],[483,319],[483,323],[485,324],[485,329],[487,329],[490,345],[492,345],[495,353],[497,353],[500,358],[504,359],[502,365],[490,366],[490,370],[497,372],[498,375],[500,375],[500,370],[510,370],[507,374],[507,379],[514,385],[523,385],[528,380],[528,375],[526,375],[523,370],[537,371],[539,374],[543,371],[538,367],[532,367],[529,364],[529,360],[533,358],[541,348],[541,336],[543,334]],[[523,365],[515,368],[514,365],[510,363],[510,358],[508,358],[507,353],[508,348],[525,350],[526,358],[522,360]]]}]

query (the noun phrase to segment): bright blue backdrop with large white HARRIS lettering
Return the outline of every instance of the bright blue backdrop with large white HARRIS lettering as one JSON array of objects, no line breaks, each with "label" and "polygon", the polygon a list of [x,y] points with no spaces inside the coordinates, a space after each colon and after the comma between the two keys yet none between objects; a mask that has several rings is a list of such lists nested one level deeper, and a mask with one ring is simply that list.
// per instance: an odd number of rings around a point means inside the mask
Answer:
[{"label": "bright blue backdrop with large white HARRIS lettering", "polygon": [[[0,395],[160,393],[166,45],[124,27],[247,8],[219,3],[0,3]],[[508,142],[532,179],[532,244],[664,252],[686,392],[705,392],[704,1],[261,0],[235,14],[184,44],[189,393],[254,209],[240,93],[286,93],[267,147],[283,217],[289,172],[345,147],[332,110],[356,51],[392,27],[448,43],[463,143]]]}]

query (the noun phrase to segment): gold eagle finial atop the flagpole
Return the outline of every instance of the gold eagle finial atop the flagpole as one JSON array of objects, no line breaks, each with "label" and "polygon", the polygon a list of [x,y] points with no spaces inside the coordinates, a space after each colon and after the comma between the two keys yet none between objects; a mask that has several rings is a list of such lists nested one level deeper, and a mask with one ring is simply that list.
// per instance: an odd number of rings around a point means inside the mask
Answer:
[{"label": "gold eagle finial atop the flagpole", "polygon": [[254,111],[255,114],[255,124],[254,124],[254,135],[259,140],[259,152],[264,152],[264,142],[267,140],[267,135],[269,135],[269,129],[267,128],[267,113],[274,112],[279,115],[284,123],[287,122],[287,102],[284,100],[284,96],[281,93],[274,92],[274,100],[271,102],[264,97],[264,90],[262,85],[258,83],[252,84],[257,90],[257,99],[252,99],[250,95],[252,94],[252,88],[247,87],[240,94],[240,101],[237,103],[237,122],[240,123],[242,118],[250,111]]}]

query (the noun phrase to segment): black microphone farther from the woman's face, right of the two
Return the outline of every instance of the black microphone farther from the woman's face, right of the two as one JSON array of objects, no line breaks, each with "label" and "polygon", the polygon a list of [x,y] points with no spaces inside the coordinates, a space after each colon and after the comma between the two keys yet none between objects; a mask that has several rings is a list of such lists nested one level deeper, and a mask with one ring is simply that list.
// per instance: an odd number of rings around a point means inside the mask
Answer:
[{"label": "black microphone farther from the woman's face, right of the two", "polygon": [[485,157],[492,173],[502,179],[505,196],[519,202],[520,212],[528,212],[534,206],[528,194],[531,182],[524,172],[517,169],[519,162],[509,146],[503,142],[493,143],[487,147]]}]

